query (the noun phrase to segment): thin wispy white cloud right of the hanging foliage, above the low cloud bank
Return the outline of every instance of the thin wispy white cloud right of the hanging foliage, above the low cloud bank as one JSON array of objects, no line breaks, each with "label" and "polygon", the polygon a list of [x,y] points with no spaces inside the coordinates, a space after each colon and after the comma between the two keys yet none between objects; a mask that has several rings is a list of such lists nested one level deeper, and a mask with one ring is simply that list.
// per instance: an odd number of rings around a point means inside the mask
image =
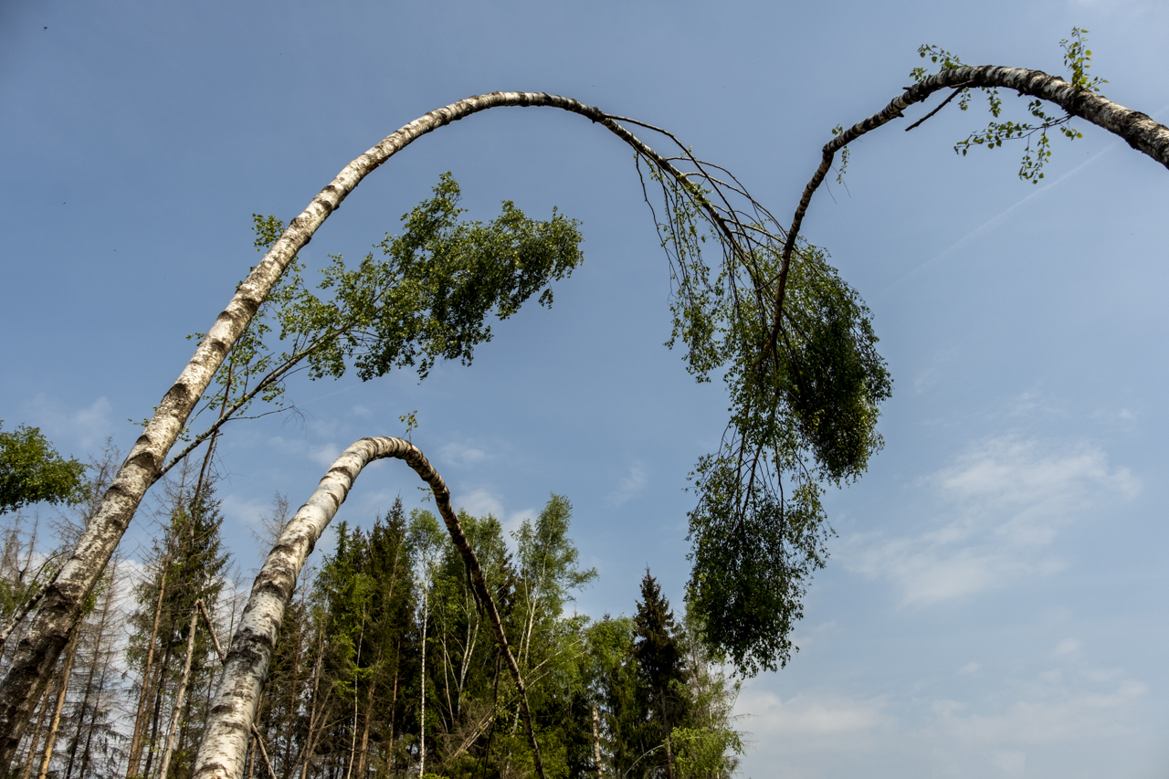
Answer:
[{"label": "thin wispy white cloud right of the hanging foliage, above the low cloud bank", "polygon": [[1111,467],[1093,444],[1011,435],[970,447],[919,485],[939,506],[921,533],[853,536],[841,556],[851,570],[893,582],[913,605],[1063,570],[1049,549],[1059,529],[1140,490],[1128,469]]}]

